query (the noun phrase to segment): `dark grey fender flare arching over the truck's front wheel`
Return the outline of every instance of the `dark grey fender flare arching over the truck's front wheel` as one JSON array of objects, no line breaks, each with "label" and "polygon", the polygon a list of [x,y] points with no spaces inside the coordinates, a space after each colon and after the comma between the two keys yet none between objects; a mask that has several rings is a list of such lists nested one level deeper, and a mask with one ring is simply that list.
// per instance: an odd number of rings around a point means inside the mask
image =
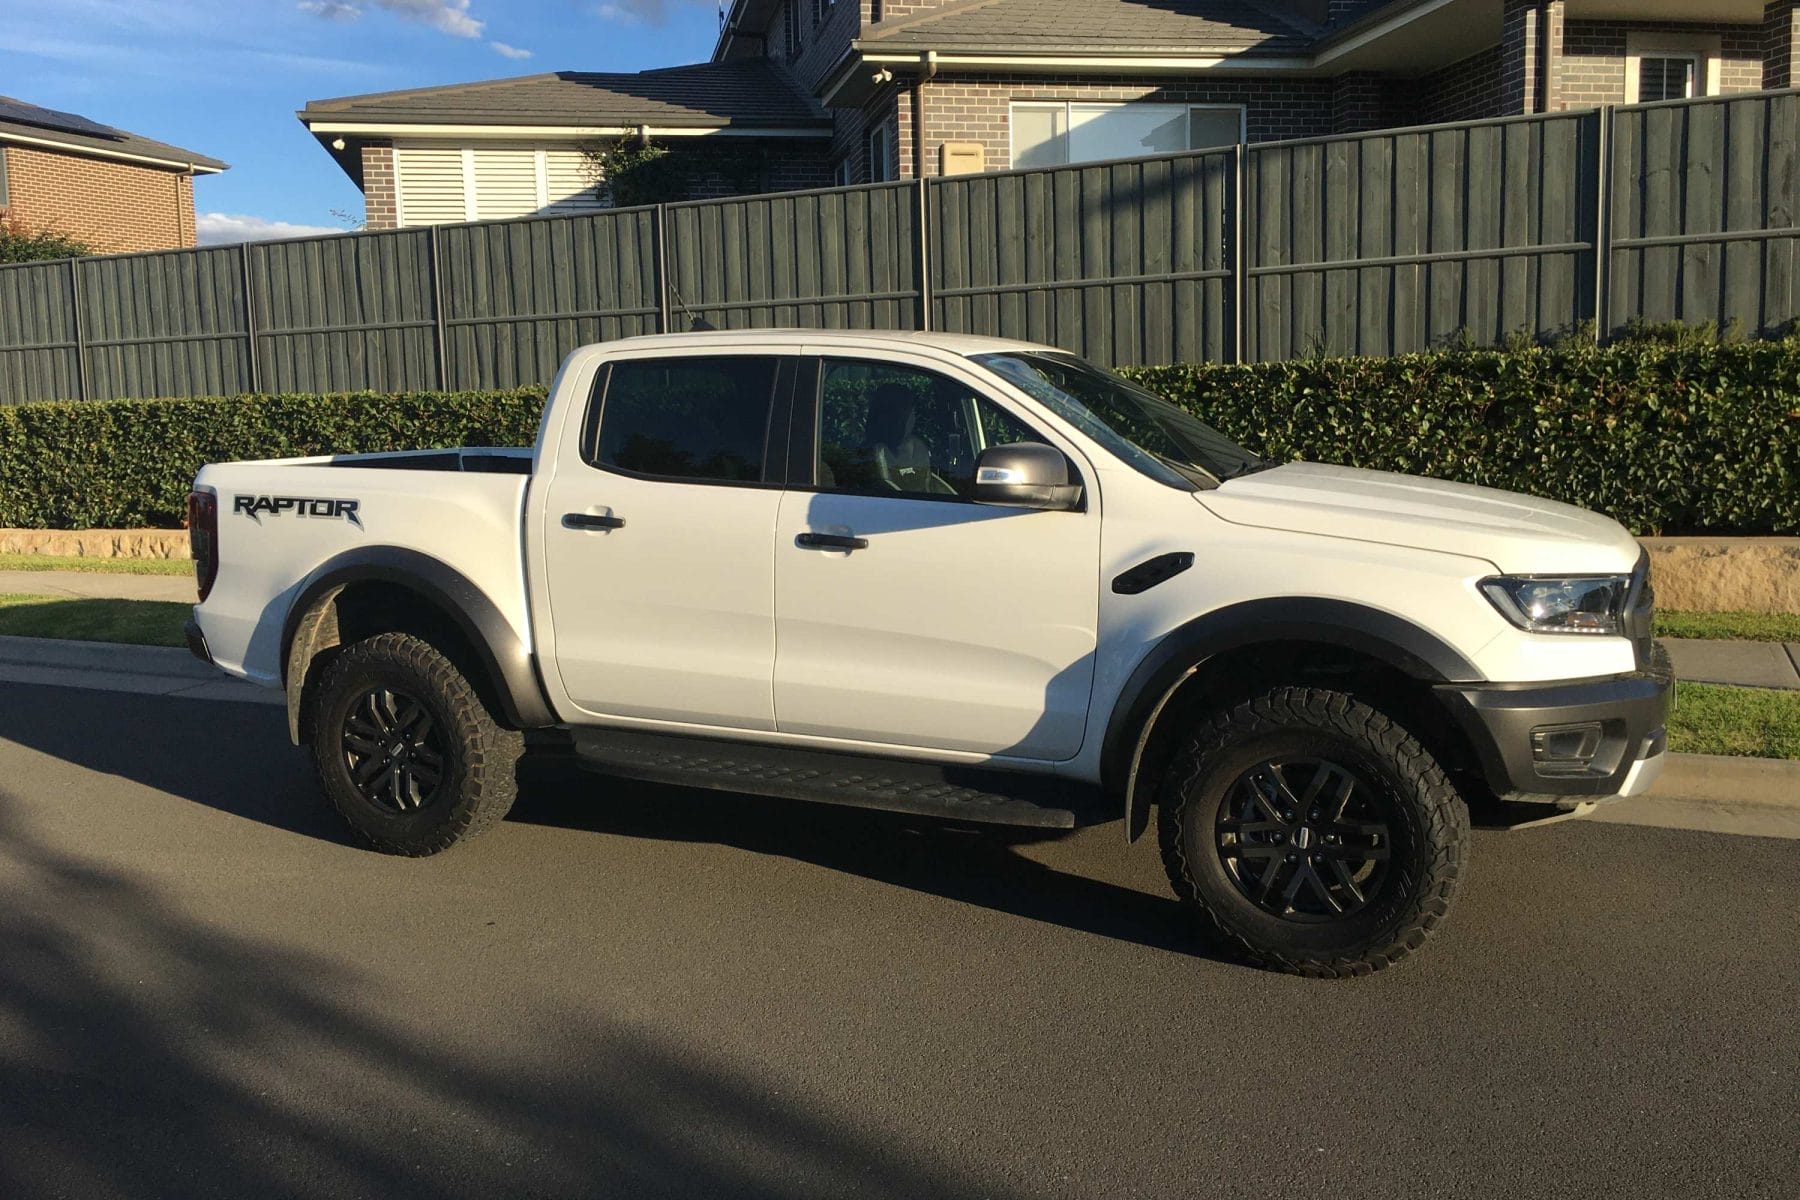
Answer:
[{"label": "dark grey fender flare arching over the truck's front wheel", "polygon": [[1100,777],[1125,810],[1125,838],[1150,820],[1148,781],[1138,777],[1150,734],[1181,685],[1208,658],[1258,642],[1325,642],[1368,655],[1426,684],[1481,682],[1467,657],[1435,633],[1379,608],[1323,597],[1229,604],[1170,630],[1132,669],[1107,720]]}]

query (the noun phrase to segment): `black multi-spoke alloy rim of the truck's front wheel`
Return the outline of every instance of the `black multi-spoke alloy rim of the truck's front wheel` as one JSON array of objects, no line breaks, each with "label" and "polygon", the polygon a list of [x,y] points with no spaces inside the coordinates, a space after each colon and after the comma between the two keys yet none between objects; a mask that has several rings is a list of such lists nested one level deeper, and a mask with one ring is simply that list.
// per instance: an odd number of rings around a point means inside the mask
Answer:
[{"label": "black multi-spoke alloy rim of the truck's front wheel", "polygon": [[1285,921],[1361,912],[1388,883],[1393,795],[1330,759],[1265,759],[1238,775],[1215,822],[1219,862]]}]

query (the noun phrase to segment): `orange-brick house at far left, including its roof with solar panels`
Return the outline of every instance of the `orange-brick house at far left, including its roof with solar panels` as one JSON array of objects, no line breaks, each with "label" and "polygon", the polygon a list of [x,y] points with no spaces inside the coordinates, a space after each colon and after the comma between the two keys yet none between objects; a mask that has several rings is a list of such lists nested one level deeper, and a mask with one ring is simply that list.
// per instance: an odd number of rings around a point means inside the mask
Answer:
[{"label": "orange-brick house at far left, including its roof with solar panels", "polygon": [[0,95],[0,218],[101,252],[194,245],[194,176],[225,164]]}]

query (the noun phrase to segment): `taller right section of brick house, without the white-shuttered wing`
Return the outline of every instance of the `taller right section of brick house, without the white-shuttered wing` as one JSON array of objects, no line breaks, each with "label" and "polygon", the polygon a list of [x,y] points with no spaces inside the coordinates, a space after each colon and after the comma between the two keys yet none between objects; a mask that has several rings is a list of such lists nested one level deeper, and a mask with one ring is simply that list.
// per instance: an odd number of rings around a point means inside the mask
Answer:
[{"label": "taller right section of brick house, without the white-shuttered wing", "polygon": [[1800,83],[1778,0],[736,0],[841,182]]}]

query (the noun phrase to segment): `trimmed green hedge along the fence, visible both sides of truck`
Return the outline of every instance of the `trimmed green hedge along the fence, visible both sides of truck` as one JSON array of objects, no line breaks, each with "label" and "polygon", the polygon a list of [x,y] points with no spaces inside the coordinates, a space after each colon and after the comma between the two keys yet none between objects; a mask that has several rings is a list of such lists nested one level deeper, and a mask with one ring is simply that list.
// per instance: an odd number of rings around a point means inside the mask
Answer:
[{"label": "trimmed green hedge along the fence, visible both sides of truck", "polygon": [[[1276,459],[1435,475],[1611,513],[1640,534],[1800,533],[1800,338],[1145,367]],[[522,446],[542,389],[0,407],[0,525],[180,524],[205,462]]]}]

